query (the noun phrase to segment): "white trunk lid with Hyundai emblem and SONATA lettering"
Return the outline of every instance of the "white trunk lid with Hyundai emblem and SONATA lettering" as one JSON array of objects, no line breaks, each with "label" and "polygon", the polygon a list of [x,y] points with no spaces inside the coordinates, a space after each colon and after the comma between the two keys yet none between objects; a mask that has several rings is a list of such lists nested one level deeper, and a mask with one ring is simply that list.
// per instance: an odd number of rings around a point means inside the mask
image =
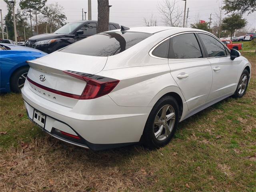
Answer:
[{"label": "white trunk lid with Hyundai emblem and SONATA lettering", "polygon": [[[95,57],[64,52],[55,52],[43,58],[28,61],[30,89],[41,97],[64,106],[72,107],[84,91],[86,81],[74,78],[64,71],[86,74],[100,72],[107,57]],[[70,98],[74,95],[74,98]]]}]

